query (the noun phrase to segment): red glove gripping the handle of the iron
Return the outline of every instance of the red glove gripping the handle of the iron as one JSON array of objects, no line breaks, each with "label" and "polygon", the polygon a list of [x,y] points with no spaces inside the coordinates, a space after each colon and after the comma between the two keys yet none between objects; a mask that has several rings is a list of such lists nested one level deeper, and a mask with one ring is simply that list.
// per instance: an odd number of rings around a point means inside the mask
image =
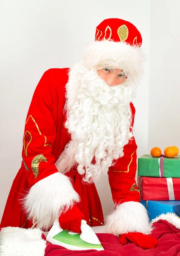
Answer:
[{"label": "red glove gripping the handle of the iron", "polygon": [[74,204],[72,208],[59,216],[59,225],[63,230],[67,229],[69,231],[81,233],[82,219],[84,219],[84,215],[76,204]]}]

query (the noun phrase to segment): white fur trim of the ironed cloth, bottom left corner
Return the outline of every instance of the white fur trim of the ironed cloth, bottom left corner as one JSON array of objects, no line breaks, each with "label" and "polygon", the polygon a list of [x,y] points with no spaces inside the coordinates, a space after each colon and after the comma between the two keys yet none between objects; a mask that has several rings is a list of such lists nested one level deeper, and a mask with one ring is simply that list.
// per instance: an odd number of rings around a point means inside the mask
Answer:
[{"label": "white fur trim of the ironed cloth, bottom left corner", "polygon": [[45,247],[37,228],[4,227],[0,231],[0,256],[44,256]]}]

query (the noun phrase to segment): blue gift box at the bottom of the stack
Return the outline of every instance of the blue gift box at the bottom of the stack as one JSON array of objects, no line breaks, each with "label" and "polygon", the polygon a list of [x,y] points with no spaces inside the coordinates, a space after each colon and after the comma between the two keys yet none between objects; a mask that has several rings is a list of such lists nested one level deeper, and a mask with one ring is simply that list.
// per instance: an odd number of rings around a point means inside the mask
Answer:
[{"label": "blue gift box at the bottom of the stack", "polygon": [[180,216],[180,201],[143,201],[141,199],[141,204],[146,207],[150,221],[167,212],[174,212]]}]

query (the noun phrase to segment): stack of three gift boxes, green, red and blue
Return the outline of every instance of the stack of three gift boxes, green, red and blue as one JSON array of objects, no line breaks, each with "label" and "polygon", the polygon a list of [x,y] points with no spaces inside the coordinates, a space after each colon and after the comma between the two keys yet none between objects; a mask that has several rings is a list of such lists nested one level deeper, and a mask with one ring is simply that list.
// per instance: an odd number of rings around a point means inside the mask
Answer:
[{"label": "stack of three gift boxes, green, red and blue", "polygon": [[150,220],[167,212],[180,216],[180,155],[139,157],[138,188]]}]

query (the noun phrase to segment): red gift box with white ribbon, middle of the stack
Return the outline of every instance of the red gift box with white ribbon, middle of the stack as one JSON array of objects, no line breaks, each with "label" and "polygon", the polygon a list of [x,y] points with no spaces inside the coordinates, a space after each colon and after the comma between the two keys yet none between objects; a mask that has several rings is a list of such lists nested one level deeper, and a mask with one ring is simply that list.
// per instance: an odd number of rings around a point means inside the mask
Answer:
[{"label": "red gift box with white ribbon, middle of the stack", "polygon": [[138,177],[143,200],[180,200],[180,178]]}]

